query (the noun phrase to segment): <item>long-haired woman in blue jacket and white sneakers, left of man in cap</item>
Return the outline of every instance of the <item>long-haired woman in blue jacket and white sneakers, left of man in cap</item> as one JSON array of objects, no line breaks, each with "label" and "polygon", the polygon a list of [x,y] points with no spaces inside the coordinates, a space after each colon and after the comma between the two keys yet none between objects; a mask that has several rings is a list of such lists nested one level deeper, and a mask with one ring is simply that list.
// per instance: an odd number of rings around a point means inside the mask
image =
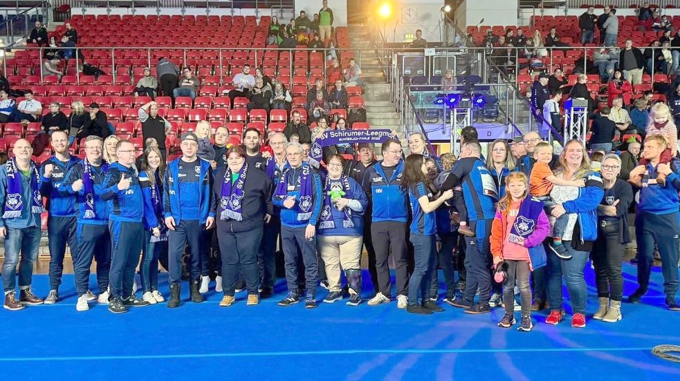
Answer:
[{"label": "long-haired woman in blue jacket and white sneakers, left of man in cap", "polygon": [[160,150],[149,146],[144,151],[139,182],[142,186],[144,207],[154,211],[149,217],[145,213],[144,246],[142,251],[142,266],[140,280],[142,283],[142,300],[150,304],[165,302],[163,295],[158,292],[158,257],[167,251],[167,228],[163,224],[163,170],[165,164]]}]

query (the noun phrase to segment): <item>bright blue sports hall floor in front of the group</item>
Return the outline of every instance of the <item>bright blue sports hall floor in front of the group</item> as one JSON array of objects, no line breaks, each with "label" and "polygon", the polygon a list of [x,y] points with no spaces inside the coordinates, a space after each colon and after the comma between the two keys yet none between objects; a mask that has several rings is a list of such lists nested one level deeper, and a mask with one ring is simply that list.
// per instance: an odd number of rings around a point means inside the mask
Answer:
[{"label": "bright blue sports hall floor in front of the group", "polygon": [[[635,268],[624,271],[627,294]],[[590,319],[596,293],[589,268],[587,275],[586,328],[571,328],[567,308],[558,326],[544,324],[546,311],[534,313],[530,333],[497,327],[502,309],[474,316],[446,305],[421,316],[397,309],[396,301],[279,307],[282,280],[259,306],[246,307],[240,293],[235,305],[219,308],[221,295],[210,291],[205,302],[173,310],[156,304],[113,315],[91,304],[76,312],[73,276],[64,275],[58,304],[0,311],[0,379],[677,380],[680,364],[651,353],[658,344],[680,345],[680,313],[663,306],[659,268],[647,297],[624,304],[616,324]],[[46,295],[47,276],[36,275],[33,288]],[[160,288],[167,293],[165,274]],[[324,296],[320,289],[318,299]]]}]

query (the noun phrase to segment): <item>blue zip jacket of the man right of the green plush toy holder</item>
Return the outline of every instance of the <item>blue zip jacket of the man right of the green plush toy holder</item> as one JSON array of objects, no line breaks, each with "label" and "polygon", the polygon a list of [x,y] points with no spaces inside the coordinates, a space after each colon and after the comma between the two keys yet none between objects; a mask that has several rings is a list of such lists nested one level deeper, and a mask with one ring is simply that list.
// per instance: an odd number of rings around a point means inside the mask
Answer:
[{"label": "blue zip jacket of the man right of the green plush toy holder", "polygon": [[401,188],[404,162],[397,164],[390,179],[387,179],[382,164],[381,160],[368,168],[362,184],[364,190],[371,195],[373,222],[407,222],[408,195],[407,191]]}]

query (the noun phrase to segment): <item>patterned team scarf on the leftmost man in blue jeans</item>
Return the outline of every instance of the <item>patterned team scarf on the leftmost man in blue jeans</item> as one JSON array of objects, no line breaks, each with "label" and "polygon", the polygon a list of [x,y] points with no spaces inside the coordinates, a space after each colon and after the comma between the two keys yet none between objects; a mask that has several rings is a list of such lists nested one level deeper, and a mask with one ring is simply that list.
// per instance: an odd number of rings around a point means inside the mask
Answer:
[{"label": "patterned team scarf on the leftmost man in blue jeans", "polygon": [[[30,212],[43,213],[45,207],[42,204],[42,195],[38,187],[40,175],[38,169],[33,163],[30,166]],[[21,217],[21,211],[24,210],[24,186],[21,184],[21,171],[17,166],[16,157],[12,157],[7,162],[7,197],[5,200],[5,210],[3,218],[18,218]]]}]

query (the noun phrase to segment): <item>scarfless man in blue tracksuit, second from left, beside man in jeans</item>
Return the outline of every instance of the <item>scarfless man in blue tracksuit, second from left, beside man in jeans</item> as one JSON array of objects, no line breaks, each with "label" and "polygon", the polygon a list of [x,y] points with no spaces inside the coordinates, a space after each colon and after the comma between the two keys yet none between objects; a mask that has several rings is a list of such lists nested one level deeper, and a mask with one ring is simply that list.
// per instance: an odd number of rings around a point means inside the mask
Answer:
[{"label": "scarfless man in blue tracksuit, second from left, beside man in jeans", "polygon": [[[54,304],[59,300],[59,284],[62,284],[64,271],[64,254],[66,243],[71,250],[71,259],[75,264],[78,253],[78,241],[75,237],[77,226],[75,215],[75,197],[62,189],[66,173],[73,164],[80,162],[68,153],[68,134],[55,130],[50,137],[55,150],[53,157],[47,159],[40,168],[40,193],[48,197],[47,236],[50,248],[50,293],[45,304]],[[95,300],[92,293],[88,295]]]}]

